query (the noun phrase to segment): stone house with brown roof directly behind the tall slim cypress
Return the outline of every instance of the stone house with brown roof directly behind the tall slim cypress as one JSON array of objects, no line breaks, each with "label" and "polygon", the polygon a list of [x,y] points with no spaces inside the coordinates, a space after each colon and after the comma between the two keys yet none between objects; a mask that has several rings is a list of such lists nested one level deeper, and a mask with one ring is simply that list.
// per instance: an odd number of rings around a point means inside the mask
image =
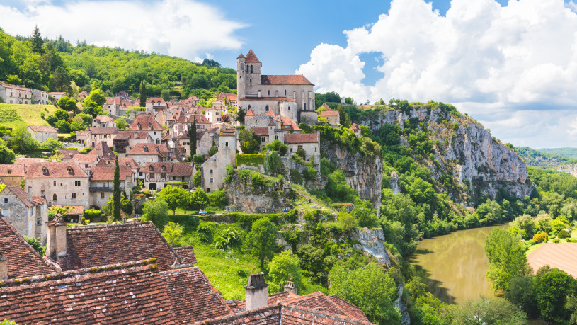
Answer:
[{"label": "stone house with brown roof directly behind the tall slim cypress", "polygon": [[[120,191],[126,193],[130,198],[130,189],[136,186],[136,173],[132,172],[130,166],[120,164]],[[93,166],[90,176],[90,205],[91,207],[103,207],[108,203],[108,199],[113,195],[115,163],[101,166]]]}]

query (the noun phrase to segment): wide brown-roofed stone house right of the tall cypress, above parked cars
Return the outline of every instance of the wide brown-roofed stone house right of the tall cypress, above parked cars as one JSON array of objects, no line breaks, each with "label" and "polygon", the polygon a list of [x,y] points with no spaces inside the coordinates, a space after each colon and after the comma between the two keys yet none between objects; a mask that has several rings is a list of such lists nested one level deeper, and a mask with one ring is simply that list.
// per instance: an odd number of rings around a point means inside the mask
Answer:
[{"label": "wide brown-roofed stone house right of the tall cypress, above parked cars", "polygon": [[143,173],[144,187],[149,190],[161,190],[166,183],[173,182],[185,182],[183,188],[189,188],[195,168],[186,163],[158,162],[145,164],[140,172]]}]

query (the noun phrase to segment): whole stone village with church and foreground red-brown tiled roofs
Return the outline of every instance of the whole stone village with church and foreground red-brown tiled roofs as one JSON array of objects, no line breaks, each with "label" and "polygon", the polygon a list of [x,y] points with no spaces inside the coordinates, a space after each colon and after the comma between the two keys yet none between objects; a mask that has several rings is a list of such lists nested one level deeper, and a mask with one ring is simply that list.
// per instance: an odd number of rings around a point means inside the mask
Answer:
[{"label": "whole stone village with church and foreground red-brown tiled roofs", "polygon": [[[290,281],[284,292],[268,295],[263,273],[248,276],[245,301],[226,301],[195,266],[192,246],[172,247],[154,224],[138,222],[134,211],[122,212],[120,223],[71,227],[85,223],[86,210],[112,200],[117,156],[120,190],[128,200],[136,187],[152,193],[167,186],[219,190],[227,166],[251,169],[237,163],[244,156],[239,134],[246,130],[258,138],[260,151],[284,144],[287,169],[319,171],[319,132],[305,133],[299,125],[323,120],[340,127],[339,113],[326,104],[315,111],[314,85],[304,76],[261,74],[262,65],[253,50],[239,55],[237,93],[216,93],[210,108],[198,106],[195,96],[141,103],[121,91],[106,98],[104,113],[76,132],[73,143],[58,149],[59,159],[21,157],[0,165],[0,319],[370,324],[359,307],[322,292],[299,296]],[[4,103],[48,104],[65,96],[0,82]],[[82,103],[88,96],[83,91],[76,99]],[[118,118],[126,120],[125,130]],[[360,136],[358,125],[351,129]],[[38,142],[59,140],[55,127],[27,130]],[[25,237],[46,246],[45,256]],[[107,301],[105,308],[94,309],[96,301]]]}]

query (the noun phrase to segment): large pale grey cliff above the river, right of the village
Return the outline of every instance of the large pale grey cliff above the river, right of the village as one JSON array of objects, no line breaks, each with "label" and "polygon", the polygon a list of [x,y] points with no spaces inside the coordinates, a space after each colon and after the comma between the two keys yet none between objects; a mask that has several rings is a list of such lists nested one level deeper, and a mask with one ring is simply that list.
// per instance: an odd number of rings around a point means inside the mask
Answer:
[{"label": "large pale grey cliff above the river, right of the village", "polygon": [[[404,122],[411,119],[426,123],[424,131],[433,141],[437,164],[428,159],[420,162],[427,164],[437,179],[441,173],[452,173],[462,190],[447,194],[459,203],[472,205],[483,194],[495,199],[501,188],[517,198],[530,195],[533,190],[532,183],[527,181],[525,162],[472,118],[456,117],[441,110],[429,113],[425,108],[409,113],[387,109],[375,115],[370,120],[361,120],[360,124],[375,132],[385,124],[399,125],[403,129]],[[400,142],[406,144],[406,139],[400,139]]]}]

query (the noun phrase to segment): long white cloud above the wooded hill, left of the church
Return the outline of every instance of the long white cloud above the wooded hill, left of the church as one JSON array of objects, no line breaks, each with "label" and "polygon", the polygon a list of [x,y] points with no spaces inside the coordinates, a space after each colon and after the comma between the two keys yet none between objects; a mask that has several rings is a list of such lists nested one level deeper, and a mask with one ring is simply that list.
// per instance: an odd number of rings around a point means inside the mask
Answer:
[{"label": "long white cloud above the wooded hill, left of the church", "polygon": [[34,25],[49,38],[146,50],[200,59],[208,50],[237,50],[234,35],[245,25],[224,18],[217,8],[192,0],[153,3],[130,0],[25,0],[22,9],[0,5],[0,26],[13,35],[30,35]]}]

